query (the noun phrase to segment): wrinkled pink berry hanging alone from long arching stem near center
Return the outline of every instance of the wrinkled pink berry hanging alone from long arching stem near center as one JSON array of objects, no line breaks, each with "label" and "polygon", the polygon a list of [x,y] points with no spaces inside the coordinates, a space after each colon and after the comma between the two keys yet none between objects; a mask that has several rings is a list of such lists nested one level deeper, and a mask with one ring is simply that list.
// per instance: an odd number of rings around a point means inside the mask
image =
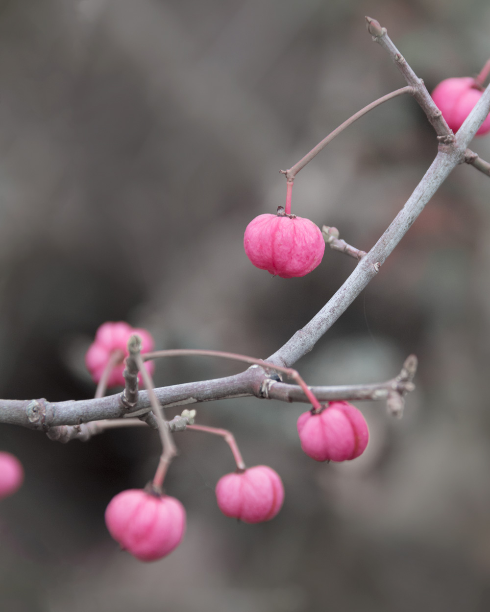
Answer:
[{"label": "wrinkled pink berry hanging alone from long arching stem near center", "polygon": [[304,276],[318,266],[325,240],[309,219],[263,214],[247,225],[243,246],[254,266],[292,278]]}]

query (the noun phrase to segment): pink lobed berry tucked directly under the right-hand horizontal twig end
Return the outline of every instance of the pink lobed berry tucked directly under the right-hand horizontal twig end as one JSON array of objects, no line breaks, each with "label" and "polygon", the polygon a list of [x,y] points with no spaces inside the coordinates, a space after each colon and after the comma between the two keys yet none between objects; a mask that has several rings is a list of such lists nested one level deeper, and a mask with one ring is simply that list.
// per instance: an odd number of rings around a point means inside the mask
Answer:
[{"label": "pink lobed berry tucked directly under the right-hand horizontal twig end", "polygon": [[369,441],[366,420],[347,401],[330,401],[318,414],[303,412],[297,425],[301,448],[316,461],[355,459]]}]

